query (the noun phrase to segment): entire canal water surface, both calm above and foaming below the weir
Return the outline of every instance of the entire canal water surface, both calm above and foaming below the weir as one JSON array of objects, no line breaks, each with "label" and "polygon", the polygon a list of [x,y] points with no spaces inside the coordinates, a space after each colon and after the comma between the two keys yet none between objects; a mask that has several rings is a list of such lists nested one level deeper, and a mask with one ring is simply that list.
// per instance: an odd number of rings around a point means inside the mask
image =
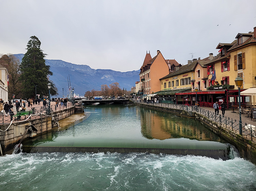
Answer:
[{"label": "entire canal water surface, both calm above and foaming below the weir", "polygon": [[[83,122],[23,142],[40,152],[0,157],[0,190],[256,190],[255,165],[196,120],[127,105],[85,111]],[[72,152],[84,147],[105,150]],[[195,155],[125,152],[132,148]]]}]

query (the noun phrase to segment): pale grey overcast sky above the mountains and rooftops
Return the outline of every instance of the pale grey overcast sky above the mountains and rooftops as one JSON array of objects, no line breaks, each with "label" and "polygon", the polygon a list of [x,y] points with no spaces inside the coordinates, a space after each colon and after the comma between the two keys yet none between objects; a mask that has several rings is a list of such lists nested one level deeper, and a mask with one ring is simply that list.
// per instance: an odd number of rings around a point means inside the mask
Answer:
[{"label": "pale grey overcast sky above the mountains and rooftops", "polygon": [[139,70],[146,51],[187,64],[256,27],[256,0],[0,0],[0,54],[26,53],[93,69]]}]

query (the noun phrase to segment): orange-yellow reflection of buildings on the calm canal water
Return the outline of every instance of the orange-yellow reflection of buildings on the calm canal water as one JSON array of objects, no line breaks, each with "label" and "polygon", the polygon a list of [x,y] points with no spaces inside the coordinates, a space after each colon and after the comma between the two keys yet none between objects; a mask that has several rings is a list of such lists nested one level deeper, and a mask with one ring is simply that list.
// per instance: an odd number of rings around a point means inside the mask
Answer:
[{"label": "orange-yellow reflection of buildings on the calm canal water", "polygon": [[141,133],[148,139],[189,138],[220,141],[220,138],[198,121],[141,109]]}]

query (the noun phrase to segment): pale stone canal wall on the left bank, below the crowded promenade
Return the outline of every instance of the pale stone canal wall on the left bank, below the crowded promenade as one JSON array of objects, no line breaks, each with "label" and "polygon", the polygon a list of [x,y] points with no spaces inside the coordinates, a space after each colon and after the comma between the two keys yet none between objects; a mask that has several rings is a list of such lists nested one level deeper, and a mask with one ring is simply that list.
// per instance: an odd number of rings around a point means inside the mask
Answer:
[{"label": "pale stone canal wall on the left bank, below the crowded promenade", "polygon": [[[74,108],[75,106],[58,110],[55,111],[55,114],[58,115],[59,120],[61,120],[73,115]],[[26,128],[31,125],[37,129],[37,133],[30,131],[26,132]],[[9,154],[12,152],[14,146],[18,144],[21,139],[41,135],[47,131],[51,131],[54,126],[56,125],[52,123],[52,117],[43,117],[43,115],[41,115],[41,118],[37,119],[28,119],[27,121],[12,123],[11,125],[1,125],[2,131],[0,131],[0,143],[2,146],[3,154]]]}]

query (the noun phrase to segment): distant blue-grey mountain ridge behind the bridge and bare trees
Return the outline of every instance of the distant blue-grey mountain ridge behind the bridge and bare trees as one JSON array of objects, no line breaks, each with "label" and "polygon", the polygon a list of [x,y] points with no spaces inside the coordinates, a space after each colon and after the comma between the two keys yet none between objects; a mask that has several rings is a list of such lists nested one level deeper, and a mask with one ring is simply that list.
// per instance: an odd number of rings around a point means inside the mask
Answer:
[{"label": "distant blue-grey mountain ridge behind the bridge and bare trees", "polygon": [[[24,54],[14,54],[20,62]],[[45,64],[51,66],[50,70],[53,75],[49,77],[58,88],[59,96],[62,96],[62,88],[64,95],[68,94],[68,80],[70,76],[71,86],[75,88],[74,93],[84,95],[86,91],[92,89],[100,90],[102,84],[110,85],[118,82],[120,88],[131,90],[135,86],[135,82],[139,81],[140,70],[129,72],[118,72],[114,70],[92,69],[87,65],[77,65],[64,62],[62,60],[45,59]]]}]

